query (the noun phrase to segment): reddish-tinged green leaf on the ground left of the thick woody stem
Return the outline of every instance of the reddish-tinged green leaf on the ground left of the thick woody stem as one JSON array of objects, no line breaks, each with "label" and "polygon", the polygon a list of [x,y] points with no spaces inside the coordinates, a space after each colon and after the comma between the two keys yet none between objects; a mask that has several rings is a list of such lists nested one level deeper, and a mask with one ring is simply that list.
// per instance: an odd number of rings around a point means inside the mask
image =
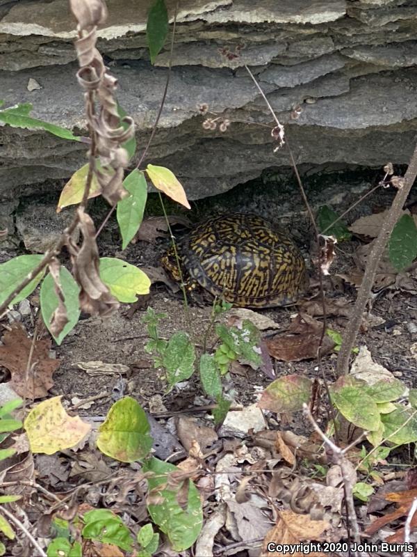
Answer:
[{"label": "reddish-tinged green leaf on the ground left of the thick woody stem", "polygon": [[272,412],[294,412],[302,409],[311,396],[311,379],[302,375],[286,375],[275,379],[263,391],[259,407]]}]

